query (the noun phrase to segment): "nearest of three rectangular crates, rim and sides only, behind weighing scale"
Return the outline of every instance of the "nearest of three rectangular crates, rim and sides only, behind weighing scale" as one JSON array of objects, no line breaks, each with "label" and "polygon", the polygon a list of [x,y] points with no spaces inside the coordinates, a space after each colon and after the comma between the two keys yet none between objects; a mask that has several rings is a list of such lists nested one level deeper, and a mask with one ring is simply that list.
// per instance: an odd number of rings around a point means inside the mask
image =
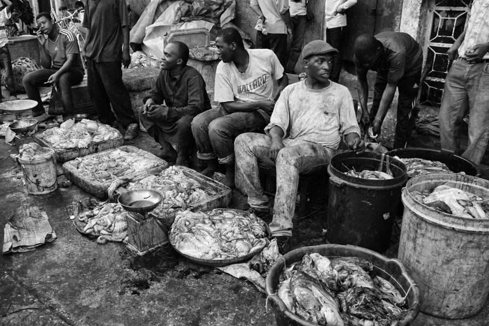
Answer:
[{"label": "nearest of three rectangular crates, rim and sides only, behind weighing scale", "polygon": [[[208,190],[213,192],[214,194],[204,198],[202,200],[199,200],[195,203],[193,203],[191,206],[189,206],[187,209],[190,211],[205,211],[205,210],[211,210],[214,208],[219,208],[219,207],[228,207],[229,204],[231,203],[231,199],[233,196],[233,192],[229,187],[224,186],[222,183],[217,182],[216,180],[213,180],[207,176],[204,176],[197,171],[194,171],[189,168],[185,168],[182,166],[178,167],[183,171],[183,173],[188,176],[191,179],[194,179],[197,181],[200,185],[202,185],[202,188],[204,190]],[[157,175],[159,173],[155,173],[153,175]],[[149,176],[151,174],[145,175]],[[133,179],[133,181],[139,181],[143,179],[144,177],[139,177],[137,179]],[[125,187],[119,187],[115,191],[114,195],[120,196],[121,194],[125,193],[127,189]],[[177,216],[177,213],[180,212],[181,210],[175,210],[173,212],[169,212],[166,214],[157,214],[155,211],[152,212],[153,215],[158,217],[158,219],[163,223],[164,227],[167,230],[170,230],[173,222],[175,221],[175,217]]]}]

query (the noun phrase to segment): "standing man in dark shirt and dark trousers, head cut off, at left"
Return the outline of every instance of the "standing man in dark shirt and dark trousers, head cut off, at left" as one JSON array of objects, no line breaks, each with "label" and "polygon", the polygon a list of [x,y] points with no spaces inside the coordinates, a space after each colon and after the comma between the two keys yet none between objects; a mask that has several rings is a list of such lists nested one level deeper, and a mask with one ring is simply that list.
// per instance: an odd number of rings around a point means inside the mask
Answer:
[{"label": "standing man in dark shirt and dark trousers, head cut off, at left", "polygon": [[[129,18],[124,0],[87,0],[83,27],[88,28],[82,56],[87,63],[90,98],[100,122],[126,130],[124,139],[137,137],[129,92],[122,82],[122,67],[131,63]],[[113,112],[111,110],[111,105]]]}]

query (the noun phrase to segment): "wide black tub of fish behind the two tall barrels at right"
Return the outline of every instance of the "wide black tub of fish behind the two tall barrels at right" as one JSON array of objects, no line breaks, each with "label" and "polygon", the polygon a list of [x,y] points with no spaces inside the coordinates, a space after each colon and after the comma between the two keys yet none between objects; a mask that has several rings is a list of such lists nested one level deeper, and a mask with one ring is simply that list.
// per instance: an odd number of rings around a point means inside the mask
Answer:
[{"label": "wide black tub of fish behind the two tall barrels at right", "polygon": [[424,148],[402,148],[387,152],[406,165],[409,178],[422,174],[458,173],[480,176],[477,165],[453,152]]}]

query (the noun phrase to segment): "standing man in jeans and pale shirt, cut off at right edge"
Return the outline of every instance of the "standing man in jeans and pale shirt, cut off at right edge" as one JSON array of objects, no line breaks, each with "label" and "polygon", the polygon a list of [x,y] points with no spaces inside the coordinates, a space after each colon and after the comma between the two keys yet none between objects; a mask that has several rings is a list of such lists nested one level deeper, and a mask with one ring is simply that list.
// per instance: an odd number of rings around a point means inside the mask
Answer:
[{"label": "standing man in jeans and pale shirt, cut off at right edge", "polygon": [[[474,0],[467,29],[448,50],[453,61],[440,108],[442,149],[460,154],[460,132],[467,111],[468,145],[463,157],[481,162],[489,139],[489,0]],[[454,61],[455,60],[455,61]]]}]

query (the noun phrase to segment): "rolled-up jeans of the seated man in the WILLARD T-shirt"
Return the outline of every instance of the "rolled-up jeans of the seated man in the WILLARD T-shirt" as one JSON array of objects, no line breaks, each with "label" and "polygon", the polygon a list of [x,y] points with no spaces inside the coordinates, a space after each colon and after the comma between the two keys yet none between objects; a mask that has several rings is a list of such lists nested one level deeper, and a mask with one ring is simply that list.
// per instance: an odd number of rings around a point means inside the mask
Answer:
[{"label": "rolled-up jeans of the seated man in the WILLARD T-shirt", "polygon": [[258,111],[227,113],[220,105],[202,112],[192,121],[197,157],[210,160],[217,156],[220,164],[234,164],[234,138],[266,126],[267,121]]}]

